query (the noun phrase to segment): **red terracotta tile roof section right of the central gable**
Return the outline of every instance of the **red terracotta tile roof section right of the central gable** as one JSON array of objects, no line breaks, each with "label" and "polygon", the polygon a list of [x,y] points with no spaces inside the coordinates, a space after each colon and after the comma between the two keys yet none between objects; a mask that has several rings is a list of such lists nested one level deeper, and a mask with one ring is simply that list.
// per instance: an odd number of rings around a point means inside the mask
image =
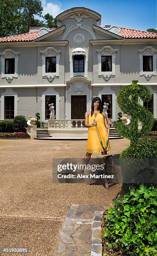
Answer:
[{"label": "red terracotta tile roof section right of the central gable", "polygon": [[[109,26],[103,28],[109,28]],[[120,27],[120,35],[124,38],[157,38],[157,33],[122,27]]]}]

